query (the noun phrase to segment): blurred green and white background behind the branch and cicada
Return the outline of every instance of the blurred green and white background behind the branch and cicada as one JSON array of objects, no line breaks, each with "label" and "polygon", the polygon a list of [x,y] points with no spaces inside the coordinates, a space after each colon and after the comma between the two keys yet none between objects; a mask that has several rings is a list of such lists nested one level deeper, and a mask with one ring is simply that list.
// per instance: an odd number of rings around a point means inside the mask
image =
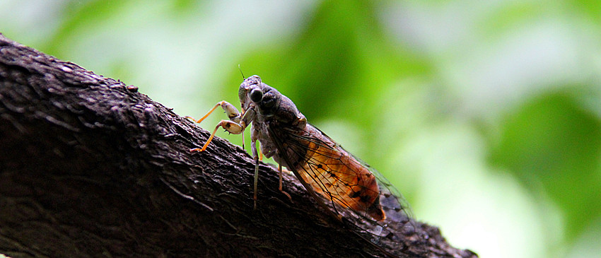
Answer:
[{"label": "blurred green and white background behind the branch and cicada", "polygon": [[480,257],[601,257],[600,17],[577,0],[0,1],[6,37],[181,116],[238,106],[240,64]]}]

